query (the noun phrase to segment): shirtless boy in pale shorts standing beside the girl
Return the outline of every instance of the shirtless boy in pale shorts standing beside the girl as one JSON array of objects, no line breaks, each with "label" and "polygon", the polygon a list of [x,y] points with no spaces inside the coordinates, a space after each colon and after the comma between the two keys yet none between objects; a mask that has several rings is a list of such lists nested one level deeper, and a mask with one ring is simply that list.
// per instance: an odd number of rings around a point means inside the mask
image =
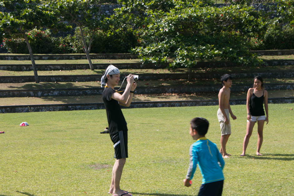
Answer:
[{"label": "shirtless boy in pale shorts standing beside the girl", "polygon": [[226,143],[231,135],[231,123],[230,123],[230,116],[233,120],[237,117],[232,113],[230,107],[230,92],[232,86],[232,77],[229,74],[224,74],[221,76],[221,83],[223,88],[220,89],[218,93],[218,102],[219,102],[219,109],[217,110],[217,118],[220,122],[221,126],[221,149],[220,153],[222,154],[223,158],[230,158],[231,154],[226,152]]}]

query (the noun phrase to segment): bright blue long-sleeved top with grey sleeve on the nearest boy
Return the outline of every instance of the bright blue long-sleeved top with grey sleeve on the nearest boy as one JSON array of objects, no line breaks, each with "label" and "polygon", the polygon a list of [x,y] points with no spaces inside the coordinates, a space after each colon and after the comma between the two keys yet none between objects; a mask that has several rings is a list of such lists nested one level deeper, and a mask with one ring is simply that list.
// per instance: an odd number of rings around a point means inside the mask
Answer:
[{"label": "bright blue long-sleeved top with grey sleeve on the nearest boy", "polygon": [[222,172],[225,161],[216,144],[205,137],[199,138],[190,146],[190,164],[186,175],[187,179],[193,178],[197,164],[202,174],[202,184],[225,179]]}]

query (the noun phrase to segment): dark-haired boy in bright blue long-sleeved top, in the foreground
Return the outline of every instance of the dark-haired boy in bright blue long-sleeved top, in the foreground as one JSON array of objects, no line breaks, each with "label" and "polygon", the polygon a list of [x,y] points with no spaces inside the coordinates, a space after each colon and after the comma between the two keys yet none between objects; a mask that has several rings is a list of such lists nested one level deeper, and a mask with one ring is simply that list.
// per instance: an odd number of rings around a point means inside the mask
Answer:
[{"label": "dark-haired boy in bright blue long-sleeved top, in the foreground", "polygon": [[197,141],[190,146],[190,164],[183,180],[184,185],[191,186],[191,179],[198,164],[202,174],[198,196],[221,195],[225,179],[222,169],[225,162],[215,143],[205,138],[209,122],[205,118],[193,118],[190,125],[190,135]]}]

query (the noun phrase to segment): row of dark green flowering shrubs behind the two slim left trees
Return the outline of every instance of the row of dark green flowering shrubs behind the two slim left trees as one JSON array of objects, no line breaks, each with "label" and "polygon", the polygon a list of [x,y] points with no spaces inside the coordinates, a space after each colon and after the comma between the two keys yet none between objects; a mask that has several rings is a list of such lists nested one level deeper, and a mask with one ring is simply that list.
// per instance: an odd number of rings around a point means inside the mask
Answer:
[{"label": "row of dark green flowering shrubs behind the two slim left trees", "polygon": [[[91,32],[85,30],[89,35]],[[50,30],[34,29],[27,33],[29,43],[33,53],[84,53],[84,46],[81,44],[79,28],[75,29],[73,35],[69,34],[65,38],[55,38]],[[131,30],[103,32],[96,30],[90,53],[128,53],[137,44],[137,36]],[[89,43],[89,36],[86,36]],[[27,44],[23,38],[3,39],[1,48],[6,48],[9,53],[28,53]]]}]

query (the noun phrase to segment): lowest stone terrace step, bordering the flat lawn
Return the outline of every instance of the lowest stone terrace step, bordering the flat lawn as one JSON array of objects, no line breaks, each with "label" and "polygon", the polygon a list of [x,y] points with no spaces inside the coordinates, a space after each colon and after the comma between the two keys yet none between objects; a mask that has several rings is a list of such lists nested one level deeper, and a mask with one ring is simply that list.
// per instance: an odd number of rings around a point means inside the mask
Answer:
[{"label": "lowest stone terrace step, bordering the flat lawn", "polygon": [[[268,98],[268,103],[294,103],[294,97]],[[230,99],[231,105],[244,105],[246,99]],[[187,107],[218,105],[218,99],[206,100],[178,100],[178,101],[138,101],[132,102],[129,108],[153,108],[153,107]],[[122,107],[126,108],[126,107]],[[0,113],[20,112],[47,112],[70,110],[104,109],[104,103],[65,103],[65,104],[38,104],[38,105],[8,105],[0,106]]]}]

